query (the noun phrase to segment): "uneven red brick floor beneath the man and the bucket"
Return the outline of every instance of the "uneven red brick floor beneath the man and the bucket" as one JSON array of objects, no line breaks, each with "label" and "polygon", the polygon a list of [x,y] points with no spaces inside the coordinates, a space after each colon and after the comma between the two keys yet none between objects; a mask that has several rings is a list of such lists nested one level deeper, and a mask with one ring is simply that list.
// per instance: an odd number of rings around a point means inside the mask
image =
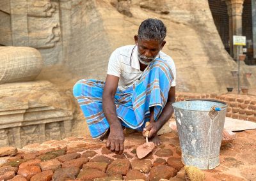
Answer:
[{"label": "uneven red brick floor beneath the man and the bucket", "polygon": [[[125,180],[126,177],[132,179],[136,179],[136,177],[138,177],[138,179],[145,178],[146,180],[157,180],[162,177],[170,179],[171,177],[170,180],[184,180],[184,168],[182,168],[183,165],[180,158],[181,150],[179,138],[174,133],[163,134],[160,138],[163,141],[163,145],[154,148],[150,156],[141,159],[141,163],[138,162],[138,157],[136,156],[136,152],[134,152],[134,148],[145,142],[141,133],[125,134],[125,154],[122,156],[116,156],[115,153],[108,152],[108,150],[104,148],[104,143],[90,138],[65,138],[65,140],[68,141],[60,142],[65,144],[62,145],[61,148],[65,148],[62,150],[56,148],[56,141],[43,143],[44,147],[40,147],[40,145],[37,144],[27,145],[19,149],[16,156],[0,157],[0,178],[14,178],[15,175],[19,175],[22,171],[17,170],[24,168],[24,166],[32,165],[34,167],[40,166],[41,171],[44,172],[37,173],[40,171],[38,169],[36,173],[26,173],[29,176],[31,175],[31,180],[38,178],[51,180],[52,175],[54,175],[54,177],[61,175],[61,169],[65,170],[65,174],[63,172],[63,178],[74,179],[74,177],[77,177],[76,180],[93,180],[95,178],[98,178],[98,180],[109,180],[115,176],[113,174],[117,174],[119,180],[120,177],[122,177],[123,180]],[[256,129],[237,133],[237,137],[234,141],[221,146],[220,166],[213,170],[205,170],[205,178],[207,178],[207,180],[256,180],[255,140]],[[76,144],[72,143],[73,141],[76,142]],[[83,147],[77,148],[76,145],[83,145]],[[51,150],[51,148],[54,148],[54,151],[45,151]],[[71,152],[69,150],[72,150],[72,154],[68,154]],[[29,156],[29,153],[35,152],[38,155],[37,157]],[[20,158],[20,155],[26,156],[27,159]],[[79,155],[81,155],[81,158],[77,158]],[[127,155],[129,155],[129,157],[127,157]],[[42,158],[42,156],[52,157],[50,157],[51,159],[49,160],[38,159],[38,157]],[[61,163],[58,159],[64,162]],[[7,162],[3,163],[3,160],[7,160]],[[125,160],[124,163],[122,160]],[[148,163],[148,161],[151,163]],[[134,166],[136,162],[141,165]],[[129,166],[129,163],[131,166]],[[77,169],[77,171],[73,171],[74,173],[72,172],[72,169],[74,170],[72,166],[75,166]],[[108,170],[108,168],[111,167],[113,170]],[[68,171],[68,169],[70,169],[70,171]],[[56,170],[58,170],[58,173]],[[26,171],[29,172],[28,170]],[[31,170],[31,172],[33,171],[35,172],[35,170]],[[138,171],[140,171],[140,173]],[[151,173],[152,171],[154,171],[154,173]],[[166,171],[168,171],[168,173],[166,173]],[[90,173],[90,175],[87,175],[88,173]],[[45,177],[44,179],[43,176]],[[19,178],[19,176],[15,178]]]}]

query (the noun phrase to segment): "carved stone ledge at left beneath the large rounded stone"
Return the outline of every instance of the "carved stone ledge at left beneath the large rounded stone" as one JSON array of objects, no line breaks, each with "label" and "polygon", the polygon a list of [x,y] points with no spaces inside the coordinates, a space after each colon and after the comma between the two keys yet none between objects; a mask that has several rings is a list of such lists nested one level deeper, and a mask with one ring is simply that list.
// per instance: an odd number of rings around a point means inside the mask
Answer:
[{"label": "carved stone ledge at left beneath the large rounded stone", "polygon": [[50,82],[0,84],[0,147],[71,136],[73,112],[72,98]]}]

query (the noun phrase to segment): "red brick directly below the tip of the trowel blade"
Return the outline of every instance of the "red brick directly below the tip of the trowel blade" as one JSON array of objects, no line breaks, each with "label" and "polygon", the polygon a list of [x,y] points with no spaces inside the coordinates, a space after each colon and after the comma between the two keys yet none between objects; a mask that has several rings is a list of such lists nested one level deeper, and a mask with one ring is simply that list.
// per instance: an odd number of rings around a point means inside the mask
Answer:
[{"label": "red brick directly below the tip of the trowel blade", "polygon": [[131,163],[132,170],[139,170],[142,173],[148,173],[152,168],[152,163],[147,159],[134,159]]}]

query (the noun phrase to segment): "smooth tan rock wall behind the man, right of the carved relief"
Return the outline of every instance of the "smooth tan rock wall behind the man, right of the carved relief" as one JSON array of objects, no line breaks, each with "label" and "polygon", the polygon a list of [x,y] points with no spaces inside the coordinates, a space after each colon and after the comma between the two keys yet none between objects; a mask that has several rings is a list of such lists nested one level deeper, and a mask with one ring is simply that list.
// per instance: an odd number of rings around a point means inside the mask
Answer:
[{"label": "smooth tan rock wall behind the man, right of the carved relief", "polygon": [[[168,28],[163,51],[177,66],[177,91],[220,93],[236,85],[230,71],[237,65],[223,47],[208,1],[72,1],[70,16],[62,16],[69,22],[62,30],[70,31],[65,64],[77,77],[104,80],[111,52],[134,44],[141,21],[153,17]],[[241,79],[255,86],[255,76]]]}]

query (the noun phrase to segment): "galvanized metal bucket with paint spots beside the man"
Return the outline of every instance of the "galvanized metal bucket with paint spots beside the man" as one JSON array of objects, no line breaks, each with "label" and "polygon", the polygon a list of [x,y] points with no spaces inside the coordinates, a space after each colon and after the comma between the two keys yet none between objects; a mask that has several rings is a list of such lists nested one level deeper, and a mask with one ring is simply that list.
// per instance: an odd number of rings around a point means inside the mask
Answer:
[{"label": "galvanized metal bucket with paint spots beside the man", "polygon": [[189,99],[172,105],[183,163],[201,170],[220,165],[227,103],[211,99]]}]

